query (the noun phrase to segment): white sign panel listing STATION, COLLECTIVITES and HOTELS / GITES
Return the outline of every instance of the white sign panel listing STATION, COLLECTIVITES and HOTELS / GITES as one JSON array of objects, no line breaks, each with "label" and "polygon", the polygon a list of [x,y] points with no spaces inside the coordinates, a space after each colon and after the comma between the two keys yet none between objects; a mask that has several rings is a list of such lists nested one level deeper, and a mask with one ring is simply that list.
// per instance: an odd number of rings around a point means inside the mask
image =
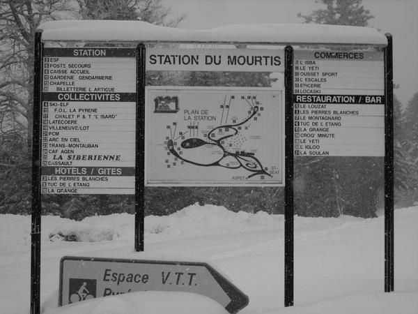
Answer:
[{"label": "white sign panel listing STATION, COLLECTIVITES and HOTELS / GITES", "polygon": [[42,194],[134,194],[134,48],[45,48]]}]

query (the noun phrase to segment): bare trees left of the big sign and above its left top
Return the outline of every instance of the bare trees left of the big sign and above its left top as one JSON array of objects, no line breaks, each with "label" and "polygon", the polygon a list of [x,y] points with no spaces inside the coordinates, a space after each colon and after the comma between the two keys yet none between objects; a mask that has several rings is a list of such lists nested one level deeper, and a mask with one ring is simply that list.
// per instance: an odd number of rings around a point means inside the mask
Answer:
[{"label": "bare trees left of the big sign and above its left top", "polygon": [[30,211],[33,40],[42,22],[143,20],[176,26],[160,0],[0,0],[0,212]]}]

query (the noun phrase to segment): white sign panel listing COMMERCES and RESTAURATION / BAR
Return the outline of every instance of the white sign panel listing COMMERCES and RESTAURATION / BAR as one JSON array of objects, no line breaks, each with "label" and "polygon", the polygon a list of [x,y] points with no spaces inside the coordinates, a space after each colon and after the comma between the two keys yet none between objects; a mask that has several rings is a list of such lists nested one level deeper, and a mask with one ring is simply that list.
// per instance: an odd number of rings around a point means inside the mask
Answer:
[{"label": "white sign panel listing COMMERCES and RESTAURATION / BAR", "polygon": [[295,50],[295,156],[385,156],[379,51]]}]

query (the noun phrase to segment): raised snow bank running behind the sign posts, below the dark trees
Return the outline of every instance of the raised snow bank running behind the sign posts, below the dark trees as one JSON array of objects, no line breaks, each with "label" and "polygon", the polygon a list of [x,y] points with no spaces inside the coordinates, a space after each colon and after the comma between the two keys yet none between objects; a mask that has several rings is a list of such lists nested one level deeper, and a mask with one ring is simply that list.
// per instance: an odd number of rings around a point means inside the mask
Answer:
[{"label": "raised snow bank running behind the sign posts, below the dark trees", "polygon": [[[0,252],[31,244],[31,217],[12,214],[0,215]],[[326,230],[362,223],[363,218],[340,216],[339,218],[295,217],[295,230]],[[200,206],[198,203],[169,216],[146,216],[146,241],[165,241],[210,234],[249,232],[256,230],[284,230],[283,215],[269,215],[265,211],[256,214],[235,213],[215,205]],[[299,237],[296,233],[295,237]],[[111,214],[91,216],[82,221],[42,216],[43,241],[125,241],[134,239],[134,215]]]}]

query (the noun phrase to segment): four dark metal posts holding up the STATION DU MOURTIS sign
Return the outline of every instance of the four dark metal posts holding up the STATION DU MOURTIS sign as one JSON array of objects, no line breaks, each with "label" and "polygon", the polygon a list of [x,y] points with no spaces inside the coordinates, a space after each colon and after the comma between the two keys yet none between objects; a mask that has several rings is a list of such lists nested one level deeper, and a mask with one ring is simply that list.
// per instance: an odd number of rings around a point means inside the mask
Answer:
[{"label": "four dark metal posts holding up the STATION DU MOURTIS sign", "polygon": [[[42,103],[42,31],[36,31],[33,80],[33,152],[31,212],[31,314],[40,313],[40,128]],[[394,110],[392,35],[385,34],[385,292],[394,291]],[[314,45],[315,43],[307,43]],[[347,45],[346,45],[347,46]],[[135,173],[135,250],[144,251],[144,158],[145,158],[145,70],[146,48],[137,45],[137,111]],[[293,306],[293,47],[285,48],[285,256],[284,306]]]}]

